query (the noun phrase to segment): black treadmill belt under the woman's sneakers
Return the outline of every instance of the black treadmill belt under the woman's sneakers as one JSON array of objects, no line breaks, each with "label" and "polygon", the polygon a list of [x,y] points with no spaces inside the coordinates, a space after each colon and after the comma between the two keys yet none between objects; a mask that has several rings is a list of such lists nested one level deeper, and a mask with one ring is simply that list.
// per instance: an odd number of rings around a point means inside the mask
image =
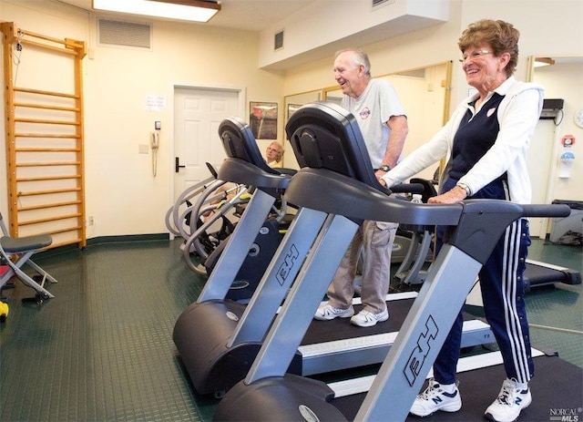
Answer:
[{"label": "black treadmill belt under the woman's sneakers", "polygon": [[[535,357],[534,362],[535,376],[529,383],[532,403],[520,413],[517,420],[566,420],[561,418],[561,412],[569,411],[575,412],[575,415],[580,417],[583,407],[583,368],[554,355]],[[435,412],[434,415],[424,418],[409,415],[406,420],[423,420],[424,422],[486,420],[484,417],[486,407],[496,399],[502,382],[506,378],[504,365],[459,373],[457,377],[462,395],[461,410],[454,413]],[[426,386],[425,382],[422,390]],[[343,412],[345,417],[353,420],[364,396],[364,394],[359,394],[340,397],[334,399],[333,404]],[[391,420],[389,415],[387,415],[387,420]]]}]

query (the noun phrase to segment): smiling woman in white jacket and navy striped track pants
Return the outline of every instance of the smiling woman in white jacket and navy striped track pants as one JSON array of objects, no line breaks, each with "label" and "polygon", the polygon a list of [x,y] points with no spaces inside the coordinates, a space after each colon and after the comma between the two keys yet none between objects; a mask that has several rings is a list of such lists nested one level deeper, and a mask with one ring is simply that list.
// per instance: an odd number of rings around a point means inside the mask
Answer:
[{"label": "smiling woman in white jacket and navy striped track pants", "polygon": [[[390,187],[447,157],[440,194],[429,202],[470,198],[530,202],[527,151],[544,91],[512,76],[517,66],[518,36],[514,26],[499,20],[481,20],[465,29],[458,41],[460,61],[476,94],[455,109],[432,139],[386,173],[382,183]],[[446,240],[444,234],[444,228],[438,228],[438,247]],[[527,383],[534,366],[523,300],[529,244],[527,220],[515,221],[479,273],[486,320],[496,336],[507,376],[499,396],[485,412],[496,421],[517,419],[532,400]],[[415,399],[411,408],[414,415],[455,412],[462,407],[455,380],[462,324],[460,313],[435,360],[435,378]]]}]

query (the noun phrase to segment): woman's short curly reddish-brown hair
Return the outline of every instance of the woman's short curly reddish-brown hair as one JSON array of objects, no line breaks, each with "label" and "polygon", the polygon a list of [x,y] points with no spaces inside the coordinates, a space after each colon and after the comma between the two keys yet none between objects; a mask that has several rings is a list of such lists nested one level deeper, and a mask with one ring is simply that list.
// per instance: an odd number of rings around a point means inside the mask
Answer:
[{"label": "woman's short curly reddish-brown hair", "polygon": [[467,26],[459,37],[457,46],[464,52],[469,47],[486,43],[492,47],[492,53],[496,57],[503,53],[510,54],[505,70],[506,76],[511,77],[517,69],[519,37],[520,33],[512,24],[501,20],[482,19]]}]

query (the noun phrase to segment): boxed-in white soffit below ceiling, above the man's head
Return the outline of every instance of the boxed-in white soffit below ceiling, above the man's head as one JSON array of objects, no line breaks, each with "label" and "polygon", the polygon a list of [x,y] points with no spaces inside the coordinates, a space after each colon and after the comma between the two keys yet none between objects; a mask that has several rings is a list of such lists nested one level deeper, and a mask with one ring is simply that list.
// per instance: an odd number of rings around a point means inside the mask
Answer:
[{"label": "boxed-in white soffit below ceiling, above the man's head", "polygon": [[[332,55],[342,41],[362,44],[414,32],[447,21],[448,0],[399,0],[373,9],[363,0],[313,2],[280,22],[273,23],[260,36],[260,67],[280,68],[300,65]],[[273,49],[273,36],[284,31],[283,47]],[[306,54],[309,52],[309,54]]]}]

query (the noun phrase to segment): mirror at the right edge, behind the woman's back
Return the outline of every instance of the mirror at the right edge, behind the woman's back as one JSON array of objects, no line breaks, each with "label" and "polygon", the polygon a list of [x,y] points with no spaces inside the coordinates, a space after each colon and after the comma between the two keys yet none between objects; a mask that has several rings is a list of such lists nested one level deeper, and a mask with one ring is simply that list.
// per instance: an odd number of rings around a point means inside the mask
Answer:
[{"label": "mirror at the right edge, behind the woman's back", "polygon": [[[578,150],[583,139],[575,139],[570,147],[561,140],[566,135],[577,137],[581,133],[575,122],[578,109],[583,107],[583,57],[528,57],[527,80],[545,88],[545,99],[562,99],[562,110],[550,111],[549,118],[538,120],[537,129],[530,141],[527,167],[532,184],[533,203],[551,203],[554,200],[583,201],[578,180],[583,180],[583,167]],[[561,161],[565,152],[575,155],[575,160]],[[573,165],[575,164],[575,165]],[[549,219],[531,219],[532,236],[545,238],[552,229]]]}]

